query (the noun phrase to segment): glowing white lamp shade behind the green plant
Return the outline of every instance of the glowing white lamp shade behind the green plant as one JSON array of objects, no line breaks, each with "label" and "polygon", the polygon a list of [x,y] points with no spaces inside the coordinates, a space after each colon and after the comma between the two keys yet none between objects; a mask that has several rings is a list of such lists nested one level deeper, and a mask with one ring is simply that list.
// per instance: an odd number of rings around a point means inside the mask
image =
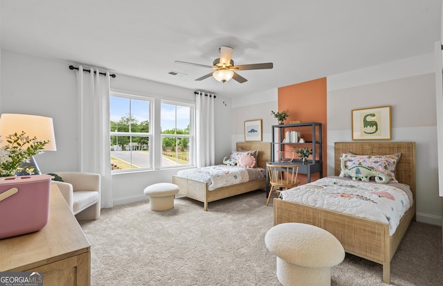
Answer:
[{"label": "glowing white lamp shade behind the green plant", "polygon": [[29,114],[1,114],[0,146],[7,145],[6,137],[11,134],[25,132],[30,138],[49,141],[44,145],[46,151],[56,151],[53,118]]}]

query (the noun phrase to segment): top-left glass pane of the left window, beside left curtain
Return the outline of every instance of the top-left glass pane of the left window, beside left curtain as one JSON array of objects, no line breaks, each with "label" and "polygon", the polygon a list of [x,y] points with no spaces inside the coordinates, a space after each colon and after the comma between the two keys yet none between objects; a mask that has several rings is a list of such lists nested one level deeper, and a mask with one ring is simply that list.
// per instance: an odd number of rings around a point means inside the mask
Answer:
[{"label": "top-left glass pane of the left window, beside left curtain", "polygon": [[129,98],[109,98],[111,132],[129,132]]}]

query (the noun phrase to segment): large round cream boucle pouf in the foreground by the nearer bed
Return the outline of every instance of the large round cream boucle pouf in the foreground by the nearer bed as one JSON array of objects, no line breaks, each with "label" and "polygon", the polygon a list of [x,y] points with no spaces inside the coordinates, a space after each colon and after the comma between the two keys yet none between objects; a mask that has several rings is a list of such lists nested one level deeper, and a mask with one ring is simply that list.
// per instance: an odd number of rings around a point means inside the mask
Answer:
[{"label": "large round cream boucle pouf in the foreground by the nearer bed", "polygon": [[277,256],[282,285],[331,285],[331,267],[345,259],[335,236],[310,224],[278,224],[269,229],[264,242]]}]

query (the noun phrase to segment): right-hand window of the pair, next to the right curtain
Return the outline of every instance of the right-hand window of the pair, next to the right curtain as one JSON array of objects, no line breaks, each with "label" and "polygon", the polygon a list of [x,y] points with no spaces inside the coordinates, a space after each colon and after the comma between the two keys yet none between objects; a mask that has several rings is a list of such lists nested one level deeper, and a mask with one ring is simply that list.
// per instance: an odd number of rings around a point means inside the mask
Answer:
[{"label": "right-hand window of the pair, next to the right curtain", "polygon": [[190,106],[161,103],[161,166],[190,165]]}]

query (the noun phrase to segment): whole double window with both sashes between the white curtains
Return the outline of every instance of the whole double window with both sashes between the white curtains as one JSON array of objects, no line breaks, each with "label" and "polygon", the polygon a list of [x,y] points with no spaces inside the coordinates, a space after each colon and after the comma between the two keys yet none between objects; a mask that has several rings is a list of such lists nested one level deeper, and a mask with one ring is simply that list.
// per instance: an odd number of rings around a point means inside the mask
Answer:
[{"label": "whole double window with both sashes between the white curtains", "polygon": [[193,105],[111,93],[112,172],[192,165],[193,112]]}]

